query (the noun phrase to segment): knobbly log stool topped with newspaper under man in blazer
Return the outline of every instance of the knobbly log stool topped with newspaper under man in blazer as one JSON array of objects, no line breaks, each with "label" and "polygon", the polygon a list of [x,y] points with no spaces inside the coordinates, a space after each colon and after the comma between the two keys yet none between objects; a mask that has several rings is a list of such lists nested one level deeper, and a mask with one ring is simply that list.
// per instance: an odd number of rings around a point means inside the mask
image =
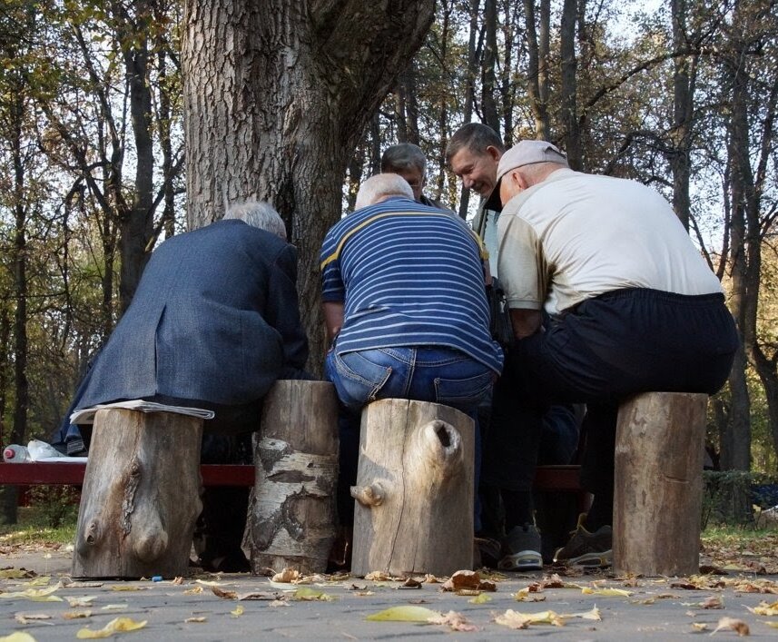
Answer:
[{"label": "knobbly log stool topped with newspaper under man in blazer", "polygon": [[202,509],[201,440],[202,419],[97,411],[78,511],[74,577],[186,574]]}]

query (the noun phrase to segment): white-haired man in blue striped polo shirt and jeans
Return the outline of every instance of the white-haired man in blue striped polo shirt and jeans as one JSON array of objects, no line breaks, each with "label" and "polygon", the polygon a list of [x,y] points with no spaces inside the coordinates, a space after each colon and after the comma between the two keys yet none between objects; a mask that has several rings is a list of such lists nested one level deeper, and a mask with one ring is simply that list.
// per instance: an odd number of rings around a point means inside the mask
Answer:
[{"label": "white-haired man in blue striped polo shirt and jeans", "polygon": [[475,417],[502,370],[502,350],[489,333],[483,259],[465,222],[415,202],[409,183],[392,173],[365,181],[357,211],[327,233],[321,298],[332,347],[325,368],[347,414],[341,523],[352,517],[365,404],[434,401]]}]

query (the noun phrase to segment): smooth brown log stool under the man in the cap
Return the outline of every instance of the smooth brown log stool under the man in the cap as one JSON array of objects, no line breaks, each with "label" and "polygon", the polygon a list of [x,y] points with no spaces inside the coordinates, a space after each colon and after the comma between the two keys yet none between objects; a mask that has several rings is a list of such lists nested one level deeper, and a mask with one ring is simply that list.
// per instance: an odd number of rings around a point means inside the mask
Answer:
[{"label": "smooth brown log stool under the man in the cap", "polygon": [[707,395],[645,392],[618,411],[614,570],[699,571]]}]

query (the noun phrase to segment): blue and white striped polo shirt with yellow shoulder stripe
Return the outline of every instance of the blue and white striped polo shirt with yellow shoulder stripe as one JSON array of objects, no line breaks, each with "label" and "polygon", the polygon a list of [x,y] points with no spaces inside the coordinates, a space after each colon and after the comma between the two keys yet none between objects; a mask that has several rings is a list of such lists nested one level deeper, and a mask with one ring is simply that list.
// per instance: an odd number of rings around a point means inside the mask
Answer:
[{"label": "blue and white striped polo shirt with yellow shoulder stripe", "polygon": [[338,353],[447,346],[499,373],[482,252],[461,219],[407,198],[342,219],[321,247],[322,301],[344,303]]}]

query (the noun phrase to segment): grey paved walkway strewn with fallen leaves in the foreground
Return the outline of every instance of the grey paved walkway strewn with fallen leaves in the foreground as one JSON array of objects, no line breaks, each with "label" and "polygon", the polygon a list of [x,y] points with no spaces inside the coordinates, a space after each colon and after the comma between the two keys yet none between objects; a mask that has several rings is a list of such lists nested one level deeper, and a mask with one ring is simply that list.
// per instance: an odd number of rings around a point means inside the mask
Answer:
[{"label": "grey paved walkway strewn with fallen leaves in the foreground", "polygon": [[[138,642],[183,637],[322,640],[413,639],[446,635],[479,640],[517,636],[553,636],[559,640],[625,640],[630,637],[673,640],[710,633],[722,617],[744,621],[750,628],[751,637],[778,637],[778,628],[767,624],[778,622],[778,615],[764,617],[747,609],[778,601],[778,577],[745,573],[705,576],[691,581],[629,580],[607,575],[567,576],[557,581],[550,579],[552,572],[512,574],[507,578],[497,576],[497,590],[485,593],[488,601],[478,603],[472,595],[443,592],[440,584],[422,583],[420,588],[399,588],[401,583],[398,581],[350,577],[314,578],[310,583],[297,585],[273,583],[268,578],[248,575],[193,576],[183,579],[181,584],[170,581],[67,584],[70,581],[67,576],[70,553],[67,551],[12,552],[0,558],[0,566],[27,568],[38,575],[49,575],[52,577],[49,587],[58,581],[64,582],[63,588],[50,594],[63,601],[43,602],[29,597],[7,597],[9,593],[40,590],[45,588],[43,584],[31,586],[28,584],[32,581],[30,578],[0,579],[0,588],[4,591],[0,594],[0,636],[25,631],[42,642],[73,639],[79,629],[99,629],[114,617],[147,621],[146,626],[137,631],[118,634]],[[227,592],[228,597],[217,597],[214,587],[205,583],[209,581],[217,582],[216,590]],[[566,588],[557,588],[562,583]],[[692,584],[697,588],[691,588]],[[528,593],[527,598],[542,601],[517,601],[520,589],[533,586],[541,590]],[[585,593],[582,588],[594,592]],[[614,593],[609,589],[626,591],[628,595],[609,595]],[[239,598],[251,593],[260,594],[254,596],[260,599],[239,601],[232,598],[230,592]],[[318,599],[314,599],[317,596]],[[84,606],[77,606],[79,601]],[[401,606],[426,607],[442,614],[456,611],[476,630],[455,634],[446,624],[366,619],[389,607]],[[508,609],[522,614],[552,610],[563,616],[591,614],[595,607],[600,620],[569,617],[563,620],[564,626],[530,624],[525,629],[515,630],[496,621]],[[91,615],[80,619],[66,618],[74,612],[90,612]],[[38,616],[46,618],[36,619]],[[716,633],[716,637],[734,638],[737,633],[725,629]]]}]

